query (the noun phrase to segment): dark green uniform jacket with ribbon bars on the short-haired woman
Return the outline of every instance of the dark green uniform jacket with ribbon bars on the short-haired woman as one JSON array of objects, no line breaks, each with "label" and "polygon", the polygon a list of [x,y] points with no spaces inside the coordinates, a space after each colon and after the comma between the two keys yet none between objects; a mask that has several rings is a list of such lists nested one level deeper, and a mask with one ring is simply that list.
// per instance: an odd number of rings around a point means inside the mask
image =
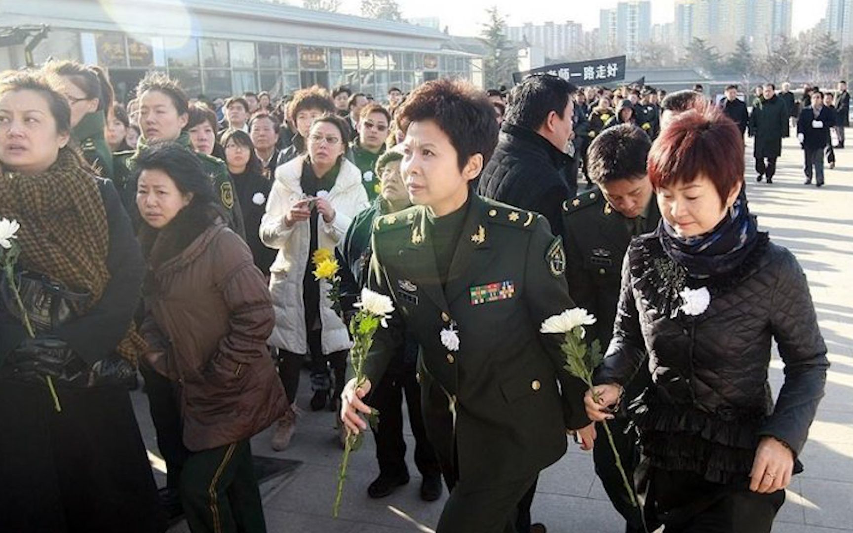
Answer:
[{"label": "dark green uniform jacket with ribbon bars on the short-haired woman", "polygon": [[[452,457],[456,446],[469,488],[529,477],[565,453],[566,428],[589,424],[585,386],[563,369],[562,337],[539,333],[548,316],[573,307],[560,239],[544,217],[474,195],[443,288],[426,209],[374,223],[368,287],[395,311],[374,337],[366,373],[379,382],[407,329],[421,345],[424,418],[438,454]],[[458,351],[441,340],[450,328]]]}]

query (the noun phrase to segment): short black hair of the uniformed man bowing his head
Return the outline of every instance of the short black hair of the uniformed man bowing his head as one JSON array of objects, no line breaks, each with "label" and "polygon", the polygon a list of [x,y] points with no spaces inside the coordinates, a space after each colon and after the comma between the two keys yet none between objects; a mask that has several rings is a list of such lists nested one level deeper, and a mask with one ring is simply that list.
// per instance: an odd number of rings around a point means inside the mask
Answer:
[{"label": "short black hair of the uniformed man bowing his head", "polygon": [[589,145],[589,179],[597,185],[646,175],[646,159],[652,148],[645,131],[635,125],[613,126]]}]

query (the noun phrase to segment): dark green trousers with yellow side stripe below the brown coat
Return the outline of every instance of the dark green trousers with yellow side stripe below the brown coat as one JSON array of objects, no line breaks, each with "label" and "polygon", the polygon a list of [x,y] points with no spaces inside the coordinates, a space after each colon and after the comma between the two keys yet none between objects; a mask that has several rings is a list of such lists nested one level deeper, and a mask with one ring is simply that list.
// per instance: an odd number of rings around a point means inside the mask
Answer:
[{"label": "dark green trousers with yellow side stripe below the brown coat", "polygon": [[249,441],[189,455],[181,501],[193,533],[264,533],[264,509]]}]

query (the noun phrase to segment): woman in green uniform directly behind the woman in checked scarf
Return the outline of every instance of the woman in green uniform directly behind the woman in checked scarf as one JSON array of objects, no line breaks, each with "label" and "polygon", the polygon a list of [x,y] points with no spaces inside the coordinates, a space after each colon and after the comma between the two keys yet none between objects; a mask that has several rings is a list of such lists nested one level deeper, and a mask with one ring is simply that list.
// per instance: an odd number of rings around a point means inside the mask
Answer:
[{"label": "woman in green uniform directly behind the woman in checked scarf", "polygon": [[77,61],[49,61],[44,71],[57,76],[71,106],[71,138],[101,177],[113,179],[113,154],[104,137],[113,108],[113,85],[107,72]]}]

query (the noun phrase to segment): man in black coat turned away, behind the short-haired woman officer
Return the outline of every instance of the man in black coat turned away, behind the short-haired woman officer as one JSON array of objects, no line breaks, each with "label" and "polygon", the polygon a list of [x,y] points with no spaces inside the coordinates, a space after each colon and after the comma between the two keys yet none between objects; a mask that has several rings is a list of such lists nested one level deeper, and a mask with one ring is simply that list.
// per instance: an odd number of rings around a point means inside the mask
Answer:
[{"label": "man in black coat turned away, behind the short-haired woman officer", "polygon": [[516,85],[501,134],[479,181],[479,194],[537,211],[562,235],[561,208],[569,189],[562,169],[570,160],[576,87],[556,76],[531,76]]}]

